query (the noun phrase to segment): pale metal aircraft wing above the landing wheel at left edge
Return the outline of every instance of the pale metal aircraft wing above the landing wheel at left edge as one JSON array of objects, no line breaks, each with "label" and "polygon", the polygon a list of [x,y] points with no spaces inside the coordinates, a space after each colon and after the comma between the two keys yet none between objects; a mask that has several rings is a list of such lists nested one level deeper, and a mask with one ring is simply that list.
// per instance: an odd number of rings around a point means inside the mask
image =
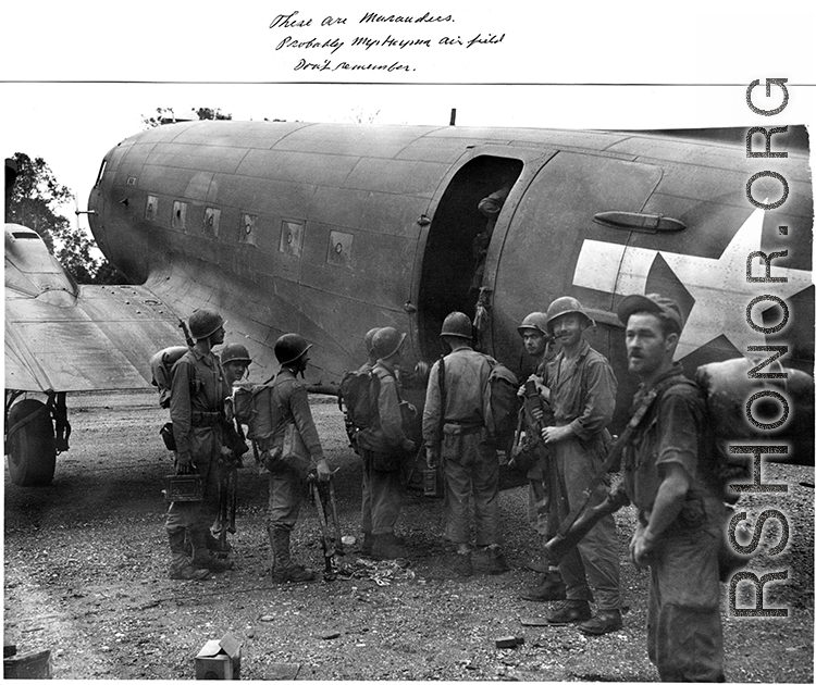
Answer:
[{"label": "pale metal aircraft wing above the landing wheel at left edge", "polygon": [[148,387],[150,357],[184,345],[178,319],[147,288],[82,286],[73,303],[65,300],[7,287],[7,389]]}]

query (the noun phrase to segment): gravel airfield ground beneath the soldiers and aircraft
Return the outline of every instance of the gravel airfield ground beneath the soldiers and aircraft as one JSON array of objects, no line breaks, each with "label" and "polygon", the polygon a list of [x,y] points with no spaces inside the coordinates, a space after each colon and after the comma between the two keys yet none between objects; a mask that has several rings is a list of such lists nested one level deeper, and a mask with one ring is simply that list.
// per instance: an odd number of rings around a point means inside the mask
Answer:
[{"label": "gravel airfield ground beneath the soldiers and aircraft", "polygon": [[[346,445],[336,404],[316,398],[313,410],[329,459],[341,468],[335,487],[343,533],[359,539],[359,460]],[[509,573],[479,573],[483,561],[477,558],[473,577],[456,576],[441,538],[442,502],[412,495],[399,531],[416,555],[408,568],[361,565],[354,546],[337,580],[277,586],[267,571],[265,482],[246,468],[235,570],[201,583],[172,582],[161,494],[171,463],[158,435],[166,414],[156,395],[77,395],[70,412],[73,447],[58,459],[52,486],[18,488],[5,475],[4,642],[20,651],[50,649],[55,678],[191,678],[200,647],[226,631],[242,644],[246,680],[657,677],[645,648],[647,577],[625,555],[631,510],[616,514],[625,628],[597,638],[570,626],[522,625],[549,607],[518,598],[534,580],[526,569],[534,540],[521,487],[502,493]],[[769,464],[763,477],[787,483],[788,493],[744,496],[739,508],[752,524],[766,509],[781,511],[790,539],[770,557],[780,526],[769,519],[749,570],[788,571],[786,582],[766,586],[765,606],[787,607],[789,615],[730,615],[724,586],[726,673],[735,682],[811,683],[813,470]],[[322,569],[318,533],[308,506],[294,549],[316,570]],[[749,602],[744,594],[740,601]],[[507,635],[524,644],[496,648]]]}]

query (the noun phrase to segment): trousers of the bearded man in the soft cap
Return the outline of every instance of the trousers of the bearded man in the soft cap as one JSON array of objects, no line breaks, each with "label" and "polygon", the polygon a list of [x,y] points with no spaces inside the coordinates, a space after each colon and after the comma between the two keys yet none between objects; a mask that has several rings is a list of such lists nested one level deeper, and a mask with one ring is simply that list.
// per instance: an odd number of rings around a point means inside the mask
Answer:
[{"label": "trousers of the bearded man in the soft cap", "polygon": [[670,528],[652,555],[646,645],[662,681],[724,682],[716,527]]}]

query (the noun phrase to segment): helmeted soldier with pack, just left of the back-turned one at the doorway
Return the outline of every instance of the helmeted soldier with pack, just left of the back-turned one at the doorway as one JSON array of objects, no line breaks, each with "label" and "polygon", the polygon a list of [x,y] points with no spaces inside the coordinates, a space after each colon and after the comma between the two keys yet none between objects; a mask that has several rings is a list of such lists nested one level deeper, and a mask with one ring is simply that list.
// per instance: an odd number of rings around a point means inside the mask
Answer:
[{"label": "helmeted soldier with pack, just left of the back-turned one at the doorway", "polygon": [[374,559],[406,556],[404,540],[394,533],[403,505],[400,466],[417,446],[405,434],[403,401],[396,371],[405,334],[386,326],[372,336],[379,385],[378,419],[357,435],[362,458],[362,553]]}]

